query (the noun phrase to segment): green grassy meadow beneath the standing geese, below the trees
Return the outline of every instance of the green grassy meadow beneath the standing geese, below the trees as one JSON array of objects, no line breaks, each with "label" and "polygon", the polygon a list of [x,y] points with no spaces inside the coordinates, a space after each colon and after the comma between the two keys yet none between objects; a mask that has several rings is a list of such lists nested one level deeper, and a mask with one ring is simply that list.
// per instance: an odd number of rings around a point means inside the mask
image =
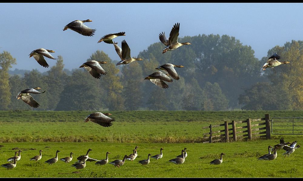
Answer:
[{"label": "green grassy meadow beneath the standing geese, below the trees", "polygon": [[[201,143],[201,128],[209,124],[222,124],[224,121],[243,121],[247,118],[303,117],[300,111],[234,111],[234,112],[195,112],[195,111],[113,111],[112,127],[104,128],[84,119],[92,112],[71,111],[1,111],[0,112],[0,164],[7,163],[15,151],[21,152],[21,160],[12,170],[0,168],[0,177],[302,177],[302,149],[297,149],[290,157],[284,158],[284,150],[278,151],[275,160],[257,160],[267,154],[268,145],[278,144],[281,136],[285,141],[298,141],[301,135],[271,135],[270,140],[237,141],[230,143]],[[209,130],[208,130],[209,131]],[[76,170],[72,163],[79,155],[92,151],[89,157],[109,161],[123,159],[138,146],[138,157],[125,161],[120,168],[111,164],[96,165],[88,162],[82,170]],[[148,165],[138,164],[147,155],[159,154],[163,158],[151,158]],[[185,163],[175,165],[168,160],[181,154],[186,147],[188,157]],[[42,149],[42,159],[30,161]],[[58,161],[54,165],[44,163],[55,157],[73,155],[71,163]],[[210,165],[214,159],[223,156],[221,165]]]}]

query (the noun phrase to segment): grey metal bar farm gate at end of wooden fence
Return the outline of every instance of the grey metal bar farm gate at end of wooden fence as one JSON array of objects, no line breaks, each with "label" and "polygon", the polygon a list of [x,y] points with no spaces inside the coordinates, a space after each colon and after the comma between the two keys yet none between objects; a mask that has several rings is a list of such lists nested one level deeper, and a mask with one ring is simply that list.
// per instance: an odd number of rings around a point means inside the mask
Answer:
[{"label": "grey metal bar farm gate at end of wooden fence", "polygon": [[271,118],[271,134],[303,134],[303,118]]}]

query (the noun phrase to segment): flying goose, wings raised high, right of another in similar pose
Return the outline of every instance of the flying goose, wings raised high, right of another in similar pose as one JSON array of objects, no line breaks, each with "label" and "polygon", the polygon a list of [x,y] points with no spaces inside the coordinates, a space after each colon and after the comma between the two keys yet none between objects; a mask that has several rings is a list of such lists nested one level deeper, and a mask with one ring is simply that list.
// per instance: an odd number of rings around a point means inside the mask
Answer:
[{"label": "flying goose, wings raised high, right of another in similar pose", "polygon": [[175,50],[176,48],[181,47],[183,45],[190,45],[189,42],[185,42],[185,43],[178,42],[179,30],[180,30],[180,23],[176,23],[174,27],[171,29],[169,38],[165,37],[165,32],[159,34],[160,41],[164,45],[166,45],[166,47],[162,50],[162,54],[165,53],[166,51]]}]

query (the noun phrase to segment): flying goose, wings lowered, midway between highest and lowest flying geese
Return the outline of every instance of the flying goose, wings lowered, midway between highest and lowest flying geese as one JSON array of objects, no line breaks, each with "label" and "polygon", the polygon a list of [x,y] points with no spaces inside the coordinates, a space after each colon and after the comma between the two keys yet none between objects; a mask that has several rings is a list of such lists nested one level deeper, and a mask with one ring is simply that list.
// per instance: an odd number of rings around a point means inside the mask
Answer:
[{"label": "flying goose, wings lowered, midway between highest and lowest flying geese", "polygon": [[79,68],[84,67],[93,77],[95,77],[96,79],[100,79],[100,77],[101,77],[100,74],[106,75],[106,73],[107,73],[102,68],[100,63],[105,64],[107,62],[105,62],[105,61],[98,62],[96,60],[91,60],[91,61],[87,61],[87,62],[83,63]]}]

